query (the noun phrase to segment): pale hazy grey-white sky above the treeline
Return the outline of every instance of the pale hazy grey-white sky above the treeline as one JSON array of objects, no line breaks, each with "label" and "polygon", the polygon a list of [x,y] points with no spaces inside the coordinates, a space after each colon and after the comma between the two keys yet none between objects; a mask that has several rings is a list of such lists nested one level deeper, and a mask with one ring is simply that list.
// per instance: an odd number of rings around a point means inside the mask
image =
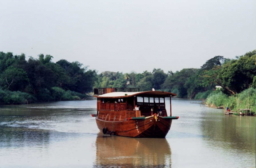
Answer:
[{"label": "pale hazy grey-white sky above the treeline", "polygon": [[256,0],[0,0],[0,51],[103,72],[200,68],[256,49]]}]

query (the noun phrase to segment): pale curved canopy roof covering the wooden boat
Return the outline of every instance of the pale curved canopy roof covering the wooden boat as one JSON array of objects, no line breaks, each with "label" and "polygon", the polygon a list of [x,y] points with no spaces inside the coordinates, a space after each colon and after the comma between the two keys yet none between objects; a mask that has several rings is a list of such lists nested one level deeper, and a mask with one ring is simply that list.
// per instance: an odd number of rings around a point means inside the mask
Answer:
[{"label": "pale curved canopy roof covering the wooden boat", "polygon": [[162,92],[162,91],[146,91],[146,92],[111,92],[107,94],[102,94],[100,96],[94,96],[96,98],[127,98],[127,97],[170,97],[170,96],[176,96],[174,93],[170,92]]}]

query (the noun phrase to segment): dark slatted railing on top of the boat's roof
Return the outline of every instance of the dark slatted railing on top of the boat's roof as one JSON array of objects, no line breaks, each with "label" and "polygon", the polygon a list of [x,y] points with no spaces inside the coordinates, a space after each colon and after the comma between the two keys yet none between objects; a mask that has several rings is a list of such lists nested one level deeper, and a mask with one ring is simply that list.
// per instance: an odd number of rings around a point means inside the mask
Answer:
[{"label": "dark slatted railing on top of the boat's roof", "polygon": [[139,88],[94,88],[94,95],[99,96],[111,92],[140,92]]}]

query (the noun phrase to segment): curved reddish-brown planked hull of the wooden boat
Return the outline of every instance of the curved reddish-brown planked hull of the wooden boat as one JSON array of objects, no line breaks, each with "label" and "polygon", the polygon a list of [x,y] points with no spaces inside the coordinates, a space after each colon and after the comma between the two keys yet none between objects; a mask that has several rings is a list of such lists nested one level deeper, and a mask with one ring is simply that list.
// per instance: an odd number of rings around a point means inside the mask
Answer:
[{"label": "curved reddish-brown planked hull of the wooden boat", "polygon": [[106,121],[96,117],[98,128],[106,134],[122,137],[164,138],[170,130],[174,117],[130,117],[126,121]]}]

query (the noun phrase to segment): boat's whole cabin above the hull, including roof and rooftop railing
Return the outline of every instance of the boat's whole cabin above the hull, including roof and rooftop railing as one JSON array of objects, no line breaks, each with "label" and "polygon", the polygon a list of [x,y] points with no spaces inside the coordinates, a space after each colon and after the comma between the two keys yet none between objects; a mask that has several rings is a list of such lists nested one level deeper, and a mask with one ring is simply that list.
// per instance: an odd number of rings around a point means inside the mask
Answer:
[{"label": "boat's whole cabin above the hull, including roof and rooftop railing", "polygon": [[[166,97],[170,98],[171,116],[172,96],[176,96],[176,94],[162,91],[139,92],[138,88],[94,89],[94,97],[97,98],[97,116],[103,120],[107,119],[106,114],[108,117],[116,116],[116,118],[109,118],[108,121],[122,121],[130,117],[148,117],[159,111],[161,111],[161,116],[168,116],[165,106]],[[139,110],[136,110],[136,105]]]}]

